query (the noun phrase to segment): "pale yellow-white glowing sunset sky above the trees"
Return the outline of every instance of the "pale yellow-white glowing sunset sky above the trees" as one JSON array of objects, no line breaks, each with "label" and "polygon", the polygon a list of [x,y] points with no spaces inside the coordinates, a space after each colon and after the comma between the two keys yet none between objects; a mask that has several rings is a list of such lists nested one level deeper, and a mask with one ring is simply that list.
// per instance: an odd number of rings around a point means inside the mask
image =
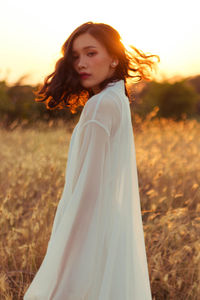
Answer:
[{"label": "pale yellow-white glowing sunset sky above the trees", "polygon": [[42,82],[61,46],[87,21],[113,26],[126,44],[160,56],[157,76],[200,74],[199,0],[51,1],[1,3],[0,80]]}]

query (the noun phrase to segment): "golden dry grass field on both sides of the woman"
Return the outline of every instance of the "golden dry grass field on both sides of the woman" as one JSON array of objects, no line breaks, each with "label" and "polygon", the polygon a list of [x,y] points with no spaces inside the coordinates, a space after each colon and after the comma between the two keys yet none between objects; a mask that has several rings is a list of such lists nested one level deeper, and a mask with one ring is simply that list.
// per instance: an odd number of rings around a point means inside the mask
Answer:
[{"label": "golden dry grass field on both sides of the woman", "polygon": [[[23,299],[45,255],[71,128],[0,129],[0,299]],[[200,299],[200,123],[134,120],[153,299]],[[130,299],[132,300],[132,299]]]}]

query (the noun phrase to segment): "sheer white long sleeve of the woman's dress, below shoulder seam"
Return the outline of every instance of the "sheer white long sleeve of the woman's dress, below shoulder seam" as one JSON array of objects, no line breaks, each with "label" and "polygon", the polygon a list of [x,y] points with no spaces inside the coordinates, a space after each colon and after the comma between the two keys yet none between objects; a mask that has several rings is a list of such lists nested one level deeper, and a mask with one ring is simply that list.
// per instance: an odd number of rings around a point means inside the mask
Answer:
[{"label": "sheer white long sleeve of the woman's dress, below shoulder seam", "polygon": [[[73,222],[62,254],[57,283],[51,294],[52,299],[66,297],[66,294],[61,294],[64,290],[68,291],[68,299],[81,299],[89,289],[95,264],[98,263],[93,254],[98,250],[99,222],[102,221],[104,209],[103,194],[109,174],[109,163],[106,164],[109,132],[99,121],[89,120],[82,125],[79,134],[79,155],[70,199],[73,207],[70,219]],[[66,230],[62,222],[60,225],[58,233]],[[87,274],[84,270],[87,270]],[[68,280],[66,276],[69,276]]]}]

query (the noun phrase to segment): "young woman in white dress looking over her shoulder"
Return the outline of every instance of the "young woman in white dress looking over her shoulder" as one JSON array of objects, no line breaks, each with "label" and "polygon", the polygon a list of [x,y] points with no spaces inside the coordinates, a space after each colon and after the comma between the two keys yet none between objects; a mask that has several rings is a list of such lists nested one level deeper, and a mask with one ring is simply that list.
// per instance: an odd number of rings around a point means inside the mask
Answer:
[{"label": "young woman in white dress looking over her shoulder", "polygon": [[131,56],[111,26],[87,22],[38,91],[48,108],[84,107],[46,255],[25,300],[152,299],[125,83],[149,80],[158,56],[132,49]]}]

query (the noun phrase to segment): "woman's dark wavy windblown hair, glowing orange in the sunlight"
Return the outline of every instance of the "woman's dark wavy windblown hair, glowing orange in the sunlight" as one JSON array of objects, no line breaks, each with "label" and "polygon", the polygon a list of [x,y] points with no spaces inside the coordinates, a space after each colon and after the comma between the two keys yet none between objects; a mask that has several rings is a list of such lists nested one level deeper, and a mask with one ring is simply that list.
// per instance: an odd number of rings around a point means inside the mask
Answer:
[{"label": "woman's dark wavy windblown hair, glowing orange in the sunlight", "polygon": [[[89,33],[96,38],[110,55],[118,58],[118,65],[114,75],[99,84],[100,90],[108,83],[127,78],[134,78],[135,82],[142,79],[151,80],[152,69],[156,66],[154,61],[160,61],[158,55],[147,55],[134,46],[128,50],[122,43],[117,30],[104,23],[87,22],[76,28],[61,48],[62,57],[56,62],[53,73],[45,77],[44,83],[34,91],[36,102],[44,102],[47,109],[69,108],[71,113],[76,113],[79,106],[84,106],[93,96],[91,89],[84,88],[80,77],[73,67],[72,45],[75,38],[83,33]],[[125,85],[125,93],[128,91]],[[129,99],[129,102],[130,99]]]}]

